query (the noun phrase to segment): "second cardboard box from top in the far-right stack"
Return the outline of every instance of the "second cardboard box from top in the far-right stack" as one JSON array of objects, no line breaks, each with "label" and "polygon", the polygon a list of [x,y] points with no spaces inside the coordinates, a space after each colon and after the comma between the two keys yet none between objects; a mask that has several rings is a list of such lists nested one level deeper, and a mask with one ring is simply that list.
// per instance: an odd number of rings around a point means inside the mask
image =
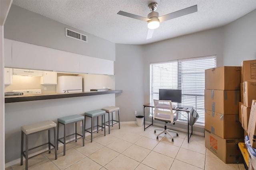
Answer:
[{"label": "second cardboard box from top in the far-right stack", "polygon": [[252,100],[256,99],[256,81],[243,82],[244,105],[251,107]]}]

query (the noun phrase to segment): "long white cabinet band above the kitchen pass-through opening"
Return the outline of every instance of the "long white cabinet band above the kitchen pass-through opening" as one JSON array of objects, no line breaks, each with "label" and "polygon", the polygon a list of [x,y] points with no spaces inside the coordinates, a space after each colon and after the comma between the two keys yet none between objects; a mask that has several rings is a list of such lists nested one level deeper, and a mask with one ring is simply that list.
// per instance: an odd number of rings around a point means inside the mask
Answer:
[{"label": "long white cabinet band above the kitchen pass-through opening", "polygon": [[114,61],[5,39],[5,66],[56,72],[114,74]]}]

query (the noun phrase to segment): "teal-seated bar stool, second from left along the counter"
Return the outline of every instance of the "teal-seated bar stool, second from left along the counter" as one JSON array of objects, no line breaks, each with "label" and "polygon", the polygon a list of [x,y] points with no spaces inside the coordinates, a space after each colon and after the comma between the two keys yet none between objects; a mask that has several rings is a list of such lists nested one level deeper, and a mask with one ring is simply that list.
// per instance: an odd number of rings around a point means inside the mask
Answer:
[{"label": "teal-seated bar stool, second from left along the counter", "polygon": [[[59,143],[58,142],[62,143],[64,145],[63,155],[65,156],[65,154],[66,154],[66,144],[70,143],[70,142],[73,142],[73,141],[77,142],[77,140],[81,139],[81,138],[83,139],[83,147],[84,147],[84,116],[82,116],[82,115],[70,115],[70,116],[58,118],[57,120],[58,120],[57,149],[59,149]],[[82,134],[77,133],[77,122],[79,122],[79,121],[82,121]],[[76,124],[75,125],[76,126],[76,128],[75,128],[76,131],[75,131],[75,133],[66,136],[66,125],[70,124],[70,123],[75,123]],[[64,125],[64,137],[62,137],[62,138],[59,138],[60,124]],[[69,142],[66,142],[66,137],[70,137],[72,135],[76,135],[76,139],[74,139],[72,141],[69,141]],[[77,138],[77,135],[79,135],[80,137]],[[62,141],[62,139],[64,139],[64,140]]]}]

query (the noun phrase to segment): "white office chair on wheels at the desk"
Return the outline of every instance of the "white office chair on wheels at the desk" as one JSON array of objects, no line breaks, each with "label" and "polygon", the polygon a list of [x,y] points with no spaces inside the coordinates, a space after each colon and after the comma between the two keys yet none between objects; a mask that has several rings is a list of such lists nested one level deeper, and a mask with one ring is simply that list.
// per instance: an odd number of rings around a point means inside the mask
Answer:
[{"label": "white office chair on wheels at the desk", "polygon": [[164,125],[164,129],[155,129],[154,133],[156,133],[156,131],[161,131],[156,139],[158,139],[158,136],[161,135],[162,133],[168,134],[170,135],[170,137],[172,137],[172,142],[173,140],[173,136],[171,135],[170,132],[172,133],[176,133],[176,136],[178,136],[178,132],[176,131],[172,131],[166,128],[166,123],[175,123],[176,120],[178,120],[178,111],[175,111],[173,113],[172,111],[172,101],[171,100],[154,100],[154,120],[158,120],[158,121],[164,121],[165,125]]}]

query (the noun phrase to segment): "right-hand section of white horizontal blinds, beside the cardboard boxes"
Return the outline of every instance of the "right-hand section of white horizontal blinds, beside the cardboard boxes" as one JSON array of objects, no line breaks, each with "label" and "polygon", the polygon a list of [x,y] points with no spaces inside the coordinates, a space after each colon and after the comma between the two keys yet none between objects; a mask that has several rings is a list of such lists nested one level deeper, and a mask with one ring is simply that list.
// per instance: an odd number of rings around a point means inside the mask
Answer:
[{"label": "right-hand section of white horizontal blinds, beside the cardboard boxes", "polygon": [[[204,123],[204,70],[216,67],[216,57],[178,61],[179,87],[182,89],[182,104],[193,106],[198,111],[197,123]],[[186,114],[183,114],[186,115]],[[180,120],[187,120],[182,114]]]}]

